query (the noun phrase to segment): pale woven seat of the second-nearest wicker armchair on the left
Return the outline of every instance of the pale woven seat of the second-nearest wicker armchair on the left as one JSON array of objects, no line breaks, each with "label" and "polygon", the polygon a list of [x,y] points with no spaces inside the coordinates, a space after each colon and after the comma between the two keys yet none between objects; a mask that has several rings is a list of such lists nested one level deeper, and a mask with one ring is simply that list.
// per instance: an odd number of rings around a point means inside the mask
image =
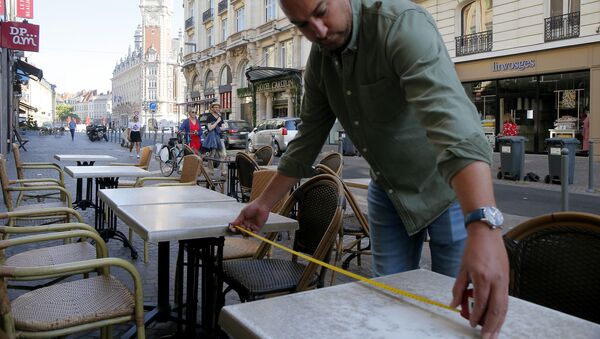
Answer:
[{"label": "pale woven seat of the second-nearest wicker armchair on the left", "polygon": [[50,266],[88,259],[96,259],[96,247],[83,241],[18,253],[7,258],[5,265],[16,267]]}]

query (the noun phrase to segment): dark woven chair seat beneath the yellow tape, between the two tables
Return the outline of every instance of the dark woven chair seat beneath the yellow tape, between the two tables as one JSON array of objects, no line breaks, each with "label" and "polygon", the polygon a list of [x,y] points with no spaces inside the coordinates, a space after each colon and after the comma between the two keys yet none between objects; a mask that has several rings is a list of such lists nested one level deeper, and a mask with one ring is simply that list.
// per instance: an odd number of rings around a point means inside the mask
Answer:
[{"label": "dark woven chair seat beneath the yellow tape, between the two tables", "polygon": [[225,281],[235,281],[258,295],[294,290],[305,268],[281,259],[232,260],[223,263],[223,274]]}]

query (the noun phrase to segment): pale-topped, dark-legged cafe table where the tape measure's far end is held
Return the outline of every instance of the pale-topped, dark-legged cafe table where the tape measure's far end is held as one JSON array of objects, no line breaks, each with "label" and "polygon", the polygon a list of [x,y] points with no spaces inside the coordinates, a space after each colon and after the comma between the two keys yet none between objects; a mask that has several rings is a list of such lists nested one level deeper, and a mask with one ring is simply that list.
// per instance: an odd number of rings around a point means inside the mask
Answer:
[{"label": "pale-topped, dark-legged cafe table where the tape measure's far end is held", "polygon": [[[101,190],[99,193],[101,199],[112,209],[113,213],[142,239],[158,243],[158,305],[155,310],[146,315],[146,321],[151,321],[155,317],[162,321],[170,318],[170,242],[188,240],[195,243],[201,251],[202,327],[205,332],[211,334],[215,331],[216,315],[218,314],[216,305],[219,300],[219,293],[222,293],[220,272],[222,270],[224,236],[231,234],[228,231],[228,223],[239,214],[245,205],[221,194],[219,195],[224,200],[218,201],[219,197],[212,195],[213,191],[201,187],[194,187],[197,190],[196,193],[189,194],[198,194],[198,198],[200,195],[208,196],[203,202],[157,203],[157,201],[146,201],[147,203],[143,205],[116,204],[119,199],[123,198],[116,197],[117,194],[120,194],[119,191],[128,190],[132,194],[128,200],[135,201],[136,197],[149,195],[145,194],[146,189],[146,187],[141,187],[124,190]],[[113,200],[113,197],[115,197],[115,200]],[[162,198],[157,197],[156,199]],[[271,213],[263,227],[263,231],[293,231],[297,228],[296,220]],[[197,290],[196,284],[198,284],[198,281],[194,281],[194,279],[190,281],[190,276],[193,275],[188,273],[186,338],[193,337],[196,330],[196,302],[189,291],[190,286],[192,290],[194,288]]]}]

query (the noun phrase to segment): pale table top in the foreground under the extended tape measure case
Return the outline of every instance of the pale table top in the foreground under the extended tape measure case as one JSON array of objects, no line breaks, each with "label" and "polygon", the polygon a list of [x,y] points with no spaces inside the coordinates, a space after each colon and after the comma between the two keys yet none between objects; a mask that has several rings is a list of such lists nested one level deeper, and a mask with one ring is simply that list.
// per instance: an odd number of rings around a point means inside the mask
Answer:
[{"label": "pale table top in the foreground under the extended tape measure case", "polygon": [[[375,280],[443,304],[454,279],[426,270]],[[458,313],[353,282],[223,307],[231,338],[480,338]],[[501,338],[600,338],[600,325],[509,297]]]}]

